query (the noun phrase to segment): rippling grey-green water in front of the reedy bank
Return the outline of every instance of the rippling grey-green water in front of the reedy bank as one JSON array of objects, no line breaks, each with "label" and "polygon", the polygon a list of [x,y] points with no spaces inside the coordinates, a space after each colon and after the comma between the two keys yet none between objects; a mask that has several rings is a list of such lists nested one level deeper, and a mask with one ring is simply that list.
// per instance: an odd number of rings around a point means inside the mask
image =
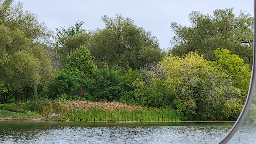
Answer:
[{"label": "rippling grey-green water in front of the reedy bank", "polygon": [[0,121],[0,143],[217,143],[233,124]]}]

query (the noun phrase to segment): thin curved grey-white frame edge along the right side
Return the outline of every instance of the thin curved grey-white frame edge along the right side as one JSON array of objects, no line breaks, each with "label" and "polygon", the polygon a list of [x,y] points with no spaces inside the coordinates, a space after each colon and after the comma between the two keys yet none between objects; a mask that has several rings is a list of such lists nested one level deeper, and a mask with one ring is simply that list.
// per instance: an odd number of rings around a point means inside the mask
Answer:
[{"label": "thin curved grey-white frame edge along the right side", "polygon": [[252,64],[252,70],[251,70],[251,78],[250,78],[250,87],[249,87],[249,91],[248,91],[248,96],[247,96],[247,99],[246,99],[246,102],[245,102],[245,105],[242,109],[242,112],[240,114],[240,116],[238,117],[237,121],[235,122],[234,126],[232,127],[232,129],[229,131],[229,133],[226,135],[225,138],[223,138],[219,144],[224,144],[224,143],[227,143],[233,136],[234,134],[237,132],[237,130],[239,129],[239,127],[241,126],[241,124],[243,123],[248,111],[249,111],[249,108],[250,108],[250,104],[252,102],[252,98],[254,96],[254,93],[255,93],[255,87],[256,87],[256,49],[255,49],[255,23],[256,23],[256,20],[255,20],[255,16],[256,16],[256,0],[254,0],[254,44],[253,44],[253,64]]}]

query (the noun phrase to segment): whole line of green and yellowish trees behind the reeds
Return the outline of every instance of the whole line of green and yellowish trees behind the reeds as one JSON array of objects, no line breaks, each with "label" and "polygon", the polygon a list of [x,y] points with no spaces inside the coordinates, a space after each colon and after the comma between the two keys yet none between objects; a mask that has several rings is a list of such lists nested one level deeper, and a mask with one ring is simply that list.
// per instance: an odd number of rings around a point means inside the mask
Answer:
[{"label": "whole line of green and yellowish trees behind the reeds", "polygon": [[173,47],[164,51],[120,14],[102,16],[103,29],[77,21],[54,33],[22,3],[0,0],[0,100],[115,101],[168,106],[183,119],[236,119],[249,87],[254,27],[253,17],[232,10],[192,12],[190,27],[172,22]]}]

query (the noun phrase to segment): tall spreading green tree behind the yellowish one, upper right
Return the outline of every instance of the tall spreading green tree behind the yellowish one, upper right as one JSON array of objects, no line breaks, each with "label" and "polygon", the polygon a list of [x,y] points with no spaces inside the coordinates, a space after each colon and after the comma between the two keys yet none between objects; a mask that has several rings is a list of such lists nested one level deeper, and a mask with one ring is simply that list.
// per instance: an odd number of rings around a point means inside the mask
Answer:
[{"label": "tall spreading green tree behind the yellowish one, upper right", "polygon": [[175,36],[170,53],[182,55],[197,51],[207,60],[216,60],[213,50],[225,47],[252,65],[254,18],[250,14],[240,12],[235,16],[233,8],[229,8],[214,10],[212,16],[193,11],[189,19],[190,27],[171,23]]}]

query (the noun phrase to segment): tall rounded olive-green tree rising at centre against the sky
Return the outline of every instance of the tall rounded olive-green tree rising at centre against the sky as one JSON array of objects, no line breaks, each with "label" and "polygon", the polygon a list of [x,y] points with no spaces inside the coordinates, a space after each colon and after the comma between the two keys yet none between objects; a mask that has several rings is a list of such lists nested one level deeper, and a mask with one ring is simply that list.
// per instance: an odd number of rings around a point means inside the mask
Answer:
[{"label": "tall rounded olive-green tree rising at centre against the sky", "polygon": [[101,18],[105,28],[98,30],[87,45],[100,68],[103,67],[101,62],[105,62],[109,67],[119,65],[125,70],[136,69],[162,58],[157,38],[136,26],[130,18],[119,14]]}]

